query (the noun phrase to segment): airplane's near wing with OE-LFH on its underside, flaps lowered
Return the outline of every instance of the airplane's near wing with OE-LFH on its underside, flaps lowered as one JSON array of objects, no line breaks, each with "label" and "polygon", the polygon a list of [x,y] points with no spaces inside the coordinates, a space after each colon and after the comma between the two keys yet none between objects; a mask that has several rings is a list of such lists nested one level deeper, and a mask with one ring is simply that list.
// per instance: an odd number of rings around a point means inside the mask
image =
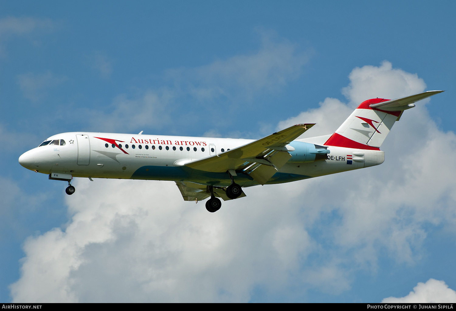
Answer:
[{"label": "airplane's near wing with OE-LFH on its underside, flaps lowered", "polygon": [[288,145],[315,124],[296,124],[262,139],[201,160],[185,163],[196,170],[226,172],[242,170],[264,185],[284,166],[294,148]]}]

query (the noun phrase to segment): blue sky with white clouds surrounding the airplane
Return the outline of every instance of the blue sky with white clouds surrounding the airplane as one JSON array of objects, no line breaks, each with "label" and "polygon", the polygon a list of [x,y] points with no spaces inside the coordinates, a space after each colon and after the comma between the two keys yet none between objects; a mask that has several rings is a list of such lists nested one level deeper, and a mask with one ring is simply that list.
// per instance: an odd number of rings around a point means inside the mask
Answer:
[{"label": "blue sky with white clouds surrounding the airplane", "polygon": [[[442,161],[456,149],[455,6],[452,1],[433,6],[424,1],[2,2],[1,300],[56,297],[56,289],[45,286],[52,278],[66,284],[61,301],[368,302],[406,296],[431,278],[455,289],[455,168]],[[64,183],[17,162],[48,136],[67,131],[259,138],[302,119],[319,123],[308,135],[331,134],[359,100],[438,89],[446,92],[394,126],[382,146],[381,166],[256,187],[238,203],[243,211],[233,206],[217,218],[189,212],[202,206],[181,202],[172,183],[81,180],[75,195],[67,197]],[[363,188],[369,178],[378,183]],[[110,203],[111,212],[102,208],[111,200],[108,189],[121,193],[119,202]],[[140,197],[143,192],[166,193],[166,199],[150,202]],[[270,197],[271,192],[278,195]],[[354,199],[359,192],[365,201]],[[284,193],[288,198],[281,202]],[[136,202],[138,212],[124,210],[120,202]],[[290,210],[277,211],[287,204]],[[45,269],[38,264],[43,262],[38,246],[55,253],[56,240],[80,238],[83,233],[72,226],[78,217],[92,217],[92,210],[104,219],[116,219],[113,211],[127,215],[138,231],[106,220],[109,237],[78,240],[82,250],[54,259],[85,264],[39,274]],[[155,216],[141,225],[136,218],[141,213]],[[239,218],[242,225],[236,225]],[[258,230],[255,238],[244,239],[242,233],[251,233],[248,219]],[[366,219],[381,226],[363,228]],[[176,229],[196,224],[202,232],[197,237]],[[63,235],[52,239],[59,230]],[[219,238],[207,244],[212,247],[195,248],[195,254],[185,247],[212,233]],[[121,256],[130,251],[126,241],[144,246],[155,239],[161,243],[152,247],[157,251],[132,255],[136,264]],[[180,257],[171,246],[182,240],[188,243],[176,246]],[[105,254],[119,258],[113,264],[122,272],[117,278],[100,269]],[[166,254],[180,260],[158,264]],[[204,254],[211,260],[189,264]],[[139,280],[145,267],[155,273]],[[186,269],[190,276],[170,272]],[[94,277],[93,271],[102,272]],[[158,295],[161,287],[154,284],[160,282],[174,285]],[[84,290],[89,284],[99,292]],[[194,285],[209,287],[195,292]],[[39,295],[24,294],[36,286],[42,288]],[[142,295],[113,296],[110,290]]]}]

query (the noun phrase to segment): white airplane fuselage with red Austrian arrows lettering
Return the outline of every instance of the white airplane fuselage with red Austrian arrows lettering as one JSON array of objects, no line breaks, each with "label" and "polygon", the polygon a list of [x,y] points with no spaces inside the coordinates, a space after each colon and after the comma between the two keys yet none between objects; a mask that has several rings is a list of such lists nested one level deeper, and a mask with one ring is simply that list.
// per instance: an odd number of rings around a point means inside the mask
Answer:
[{"label": "white airplane fuselage with red Austrian arrows lettering", "polygon": [[[254,140],[187,136],[132,135],[72,132],[53,135],[54,142],[24,153],[19,162],[43,174],[64,173],[73,177],[192,181],[228,186],[228,173],[198,171],[185,163],[245,145]],[[56,145],[55,141],[60,143]],[[299,140],[306,141],[306,140]],[[292,143],[290,144],[292,145]],[[383,151],[327,146],[330,153],[319,161],[289,162],[267,183],[282,183],[350,171],[381,164]],[[258,183],[242,171],[236,182],[249,187]]]}]

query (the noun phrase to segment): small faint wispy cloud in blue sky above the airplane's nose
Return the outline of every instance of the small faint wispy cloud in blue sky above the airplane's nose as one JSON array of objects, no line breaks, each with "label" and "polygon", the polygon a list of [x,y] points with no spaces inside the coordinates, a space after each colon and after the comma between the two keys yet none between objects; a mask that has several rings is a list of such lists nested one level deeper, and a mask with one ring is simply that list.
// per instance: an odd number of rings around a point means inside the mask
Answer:
[{"label": "small faint wispy cloud in blue sky above the airplane's nose", "polygon": [[64,76],[57,76],[54,73],[24,73],[16,77],[17,84],[21,88],[24,97],[36,103],[46,97],[50,88],[66,81]]}]

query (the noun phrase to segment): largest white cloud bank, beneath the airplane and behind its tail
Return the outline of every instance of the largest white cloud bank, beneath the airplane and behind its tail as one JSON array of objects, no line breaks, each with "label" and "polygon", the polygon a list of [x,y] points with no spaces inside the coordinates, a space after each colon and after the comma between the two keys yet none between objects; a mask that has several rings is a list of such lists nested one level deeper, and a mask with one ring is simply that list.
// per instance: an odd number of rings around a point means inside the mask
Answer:
[{"label": "largest white cloud bank, beneath the airplane and behind its tail", "polygon": [[[397,97],[424,90],[415,75],[382,70],[386,80],[409,77]],[[388,91],[387,82],[365,82],[376,72],[355,68],[350,88]],[[122,100],[125,109],[144,104]],[[330,134],[350,110],[326,98],[278,127],[313,119],[321,124],[316,135]],[[128,118],[119,112],[116,122]],[[382,149],[381,166],[247,188],[247,197],[213,214],[204,202],[184,202],[172,182],[83,179],[67,197],[67,227],[24,244],[11,295],[16,302],[249,301],[257,287],[301,299],[308,289],[340,294],[357,271],[375,273],[382,256],[418,262],[429,226],[455,233],[456,163],[435,161],[455,153],[454,133],[440,131],[418,103]]]}]

